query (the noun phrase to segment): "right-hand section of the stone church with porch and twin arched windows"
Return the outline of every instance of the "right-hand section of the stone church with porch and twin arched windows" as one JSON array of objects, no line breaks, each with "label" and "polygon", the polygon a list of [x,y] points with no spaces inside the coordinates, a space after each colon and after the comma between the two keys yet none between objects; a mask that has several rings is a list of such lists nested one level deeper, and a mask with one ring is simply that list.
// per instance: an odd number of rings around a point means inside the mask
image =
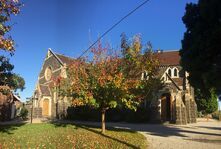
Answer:
[{"label": "right-hand section of the stone church with porch and twin arched windows", "polygon": [[194,89],[188,82],[188,73],[180,66],[179,51],[156,52],[160,63],[159,76],[165,87],[155,96],[158,110],[155,118],[175,124],[195,123],[197,105]]}]

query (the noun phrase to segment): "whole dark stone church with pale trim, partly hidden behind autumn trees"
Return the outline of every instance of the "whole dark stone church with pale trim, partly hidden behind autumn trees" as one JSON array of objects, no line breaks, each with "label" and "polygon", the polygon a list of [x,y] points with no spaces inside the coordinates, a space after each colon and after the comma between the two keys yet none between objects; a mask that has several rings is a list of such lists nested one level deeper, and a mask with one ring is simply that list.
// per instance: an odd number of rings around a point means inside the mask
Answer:
[{"label": "whole dark stone church with pale trim, partly hidden behind autumn trees", "polygon": [[[159,76],[165,87],[155,96],[153,107],[154,119],[161,122],[187,124],[196,122],[196,104],[194,90],[188,83],[188,73],[179,65],[179,51],[157,51],[160,62]],[[55,89],[50,88],[52,78],[67,77],[66,68],[73,58],[48,50],[35,88],[34,117],[65,117],[69,100],[60,97]]]}]

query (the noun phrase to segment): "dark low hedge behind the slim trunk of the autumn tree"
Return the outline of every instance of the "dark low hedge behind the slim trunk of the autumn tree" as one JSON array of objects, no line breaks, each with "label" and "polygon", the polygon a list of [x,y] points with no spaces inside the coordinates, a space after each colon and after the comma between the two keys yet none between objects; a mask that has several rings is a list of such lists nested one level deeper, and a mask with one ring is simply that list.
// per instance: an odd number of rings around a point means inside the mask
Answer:
[{"label": "dark low hedge behind the slim trunk of the autumn tree", "polygon": [[[83,121],[100,121],[101,111],[89,106],[69,107],[67,110],[67,119]],[[138,108],[137,111],[126,108],[114,108],[107,110],[107,122],[147,122],[150,119],[150,110],[147,108]]]}]

